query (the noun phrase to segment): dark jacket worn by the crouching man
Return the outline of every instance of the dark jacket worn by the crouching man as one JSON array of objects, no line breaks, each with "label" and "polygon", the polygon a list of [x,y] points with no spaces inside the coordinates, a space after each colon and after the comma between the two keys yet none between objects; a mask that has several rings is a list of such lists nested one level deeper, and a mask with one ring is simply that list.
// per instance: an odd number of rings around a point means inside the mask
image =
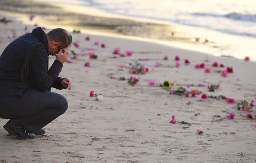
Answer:
[{"label": "dark jacket worn by the crouching man", "polygon": [[0,95],[22,95],[28,89],[64,89],[57,77],[63,64],[55,60],[48,70],[48,41],[41,27],[11,42],[0,56]]}]

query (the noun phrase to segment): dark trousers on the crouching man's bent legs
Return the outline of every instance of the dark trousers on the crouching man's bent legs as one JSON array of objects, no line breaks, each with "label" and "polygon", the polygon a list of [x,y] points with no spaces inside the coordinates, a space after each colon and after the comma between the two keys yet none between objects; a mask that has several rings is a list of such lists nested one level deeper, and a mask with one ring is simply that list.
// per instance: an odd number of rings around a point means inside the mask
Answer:
[{"label": "dark trousers on the crouching man's bent legs", "polygon": [[21,96],[0,96],[0,118],[13,120],[32,133],[52,122],[67,108],[67,99],[51,91],[27,90]]}]

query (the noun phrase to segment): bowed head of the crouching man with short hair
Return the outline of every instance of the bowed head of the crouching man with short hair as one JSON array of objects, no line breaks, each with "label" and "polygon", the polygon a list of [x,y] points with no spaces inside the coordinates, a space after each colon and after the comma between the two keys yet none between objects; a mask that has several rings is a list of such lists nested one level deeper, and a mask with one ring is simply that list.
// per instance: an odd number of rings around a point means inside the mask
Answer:
[{"label": "bowed head of the crouching man with short hair", "polygon": [[58,53],[60,49],[68,49],[72,43],[71,34],[62,28],[53,29],[49,31],[46,36],[48,40],[49,54],[52,56]]}]

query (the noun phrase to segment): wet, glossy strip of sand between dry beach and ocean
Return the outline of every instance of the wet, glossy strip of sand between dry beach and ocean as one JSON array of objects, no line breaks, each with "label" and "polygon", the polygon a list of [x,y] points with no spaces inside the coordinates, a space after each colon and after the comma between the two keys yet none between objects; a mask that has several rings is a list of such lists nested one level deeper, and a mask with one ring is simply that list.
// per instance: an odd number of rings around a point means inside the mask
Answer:
[{"label": "wet, glossy strip of sand between dry beach and ocean", "polygon": [[[63,16],[53,11],[53,16],[46,14],[48,10],[27,10],[26,7],[17,7],[20,5],[26,6],[28,2],[34,2],[34,6],[51,6],[50,9],[65,10],[66,14]],[[58,1],[61,2],[61,1]],[[19,4],[20,3],[20,4]],[[256,39],[252,39],[246,36],[233,36],[229,34],[222,34],[221,32],[211,31],[200,27],[183,26],[176,23],[166,22],[162,20],[152,20],[146,18],[136,18],[131,16],[122,16],[109,14],[104,11],[93,9],[92,7],[80,6],[79,10],[75,10],[77,6],[72,5],[57,5],[55,3],[42,3],[37,1],[23,1],[17,2],[16,8],[12,10],[18,10],[16,13],[22,14],[23,20],[27,24],[46,24],[49,28],[56,26],[65,26],[71,31],[74,28],[81,30],[81,32],[106,36],[126,37],[129,39],[144,40],[155,43],[160,43],[176,48],[183,48],[197,52],[208,53],[213,56],[230,56],[243,60],[245,56],[249,56],[251,61],[256,61],[256,56],[253,55],[255,47],[253,43],[256,43]],[[31,3],[33,6],[33,4]],[[8,5],[6,5],[8,6]],[[82,7],[82,8],[81,8]],[[0,10],[3,11],[5,6],[2,6]],[[84,9],[84,10],[82,10]],[[6,12],[6,11],[3,11]],[[9,14],[17,15],[15,12],[9,11]],[[39,17],[44,16],[44,19],[36,18],[30,22],[27,19],[28,15],[36,14]],[[37,16],[37,17],[38,17]],[[56,19],[60,17],[63,21],[57,22]],[[75,22],[71,18],[76,18]],[[55,21],[54,21],[55,19]],[[105,20],[106,19],[106,20]],[[86,20],[82,22],[82,20]],[[109,22],[109,23],[107,23]],[[56,25],[52,25],[52,24]],[[147,31],[147,32],[145,32]],[[163,32],[165,31],[165,32]],[[174,36],[171,36],[171,32],[175,32]],[[195,38],[199,37],[197,42]],[[221,40],[220,40],[221,38]],[[208,39],[209,42],[204,44],[204,39]],[[244,43],[241,43],[240,40]],[[240,43],[238,43],[240,41]],[[255,49],[256,51],[256,49]]]}]

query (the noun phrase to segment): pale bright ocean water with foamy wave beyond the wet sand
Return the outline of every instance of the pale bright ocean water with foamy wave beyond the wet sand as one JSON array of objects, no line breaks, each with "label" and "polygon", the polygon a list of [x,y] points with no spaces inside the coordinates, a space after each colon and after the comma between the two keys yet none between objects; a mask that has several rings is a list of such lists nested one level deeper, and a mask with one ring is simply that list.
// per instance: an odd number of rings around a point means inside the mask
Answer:
[{"label": "pale bright ocean water with foamy wave beyond the wet sand", "polygon": [[106,12],[256,37],[255,0],[80,0]]}]

